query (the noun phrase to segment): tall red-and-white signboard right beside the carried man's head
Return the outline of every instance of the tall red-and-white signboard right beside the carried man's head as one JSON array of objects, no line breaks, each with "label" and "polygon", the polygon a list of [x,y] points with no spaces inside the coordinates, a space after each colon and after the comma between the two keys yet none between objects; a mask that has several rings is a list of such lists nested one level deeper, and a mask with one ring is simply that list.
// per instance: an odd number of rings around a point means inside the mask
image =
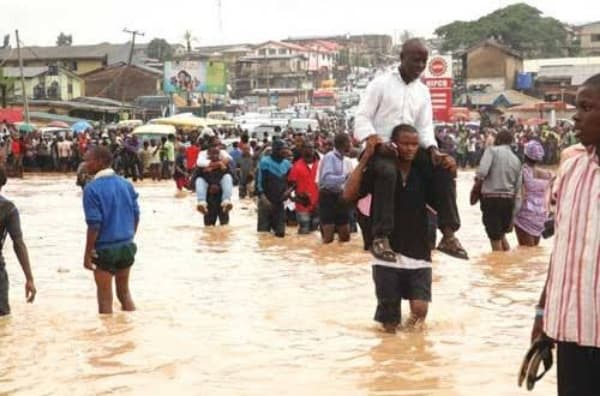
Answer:
[{"label": "tall red-and-white signboard right beside the carried man's head", "polygon": [[423,82],[431,93],[433,119],[450,121],[452,109],[452,57],[433,55],[427,62]]}]

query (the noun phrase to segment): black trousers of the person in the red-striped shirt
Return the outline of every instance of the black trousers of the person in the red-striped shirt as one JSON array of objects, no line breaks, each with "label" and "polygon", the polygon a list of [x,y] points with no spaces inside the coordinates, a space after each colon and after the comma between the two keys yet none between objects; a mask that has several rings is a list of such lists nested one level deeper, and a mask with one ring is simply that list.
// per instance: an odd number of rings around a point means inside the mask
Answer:
[{"label": "black trousers of the person in the red-striped shirt", "polygon": [[557,345],[558,396],[600,395],[600,348]]}]

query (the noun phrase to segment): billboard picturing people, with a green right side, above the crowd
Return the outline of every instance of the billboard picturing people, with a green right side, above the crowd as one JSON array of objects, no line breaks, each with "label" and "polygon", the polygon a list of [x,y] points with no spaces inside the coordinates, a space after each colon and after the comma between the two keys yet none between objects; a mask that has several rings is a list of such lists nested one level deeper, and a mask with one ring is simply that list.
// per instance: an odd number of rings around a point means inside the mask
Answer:
[{"label": "billboard picturing people, with a green right side, above the crowd", "polygon": [[223,62],[165,62],[163,90],[165,93],[226,92],[227,70]]}]

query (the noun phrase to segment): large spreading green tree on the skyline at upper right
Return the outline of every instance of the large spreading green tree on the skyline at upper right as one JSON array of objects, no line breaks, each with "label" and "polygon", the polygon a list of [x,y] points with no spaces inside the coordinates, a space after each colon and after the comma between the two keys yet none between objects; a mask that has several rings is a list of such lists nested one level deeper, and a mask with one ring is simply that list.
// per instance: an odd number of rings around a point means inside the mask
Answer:
[{"label": "large spreading green tree on the skyline at upper right", "polygon": [[525,3],[498,9],[476,21],[455,21],[436,29],[443,39],[442,50],[471,47],[485,39],[498,42],[526,57],[558,57],[571,46],[565,25],[542,17],[542,12]]}]

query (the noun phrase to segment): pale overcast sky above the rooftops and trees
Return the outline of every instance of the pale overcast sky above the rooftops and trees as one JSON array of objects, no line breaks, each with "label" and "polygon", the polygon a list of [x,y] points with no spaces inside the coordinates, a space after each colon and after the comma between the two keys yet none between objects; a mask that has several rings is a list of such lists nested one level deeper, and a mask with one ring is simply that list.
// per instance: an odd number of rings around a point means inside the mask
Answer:
[{"label": "pale overcast sky above the rooftops and trees", "polygon": [[[73,44],[126,42],[123,28],[140,30],[140,42],[161,37],[183,43],[186,29],[194,46],[256,43],[289,36],[385,33],[403,30],[429,37],[436,27],[477,19],[519,1],[510,0],[0,0],[3,36],[19,29],[25,45],[54,45],[63,31]],[[545,15],[569,23],[600,20],[589,0],[528,0]],[[14,45],[14,39],[11,39]]]}]

